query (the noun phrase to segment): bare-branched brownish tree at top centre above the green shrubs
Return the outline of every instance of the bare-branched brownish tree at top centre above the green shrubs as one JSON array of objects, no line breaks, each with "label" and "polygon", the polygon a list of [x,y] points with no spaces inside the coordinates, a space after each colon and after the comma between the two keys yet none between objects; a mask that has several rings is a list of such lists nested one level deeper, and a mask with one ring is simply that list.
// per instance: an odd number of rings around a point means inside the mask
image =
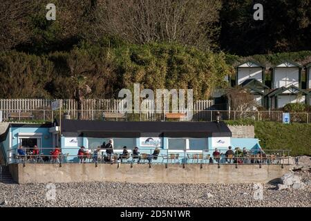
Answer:
[{"label": "bare-branched brownish tree at top centre above the green shrubs", "polygon": [[179,42],[214,48],[220,0],[98,1],[86,38],[117,35],[136,44]]}]

